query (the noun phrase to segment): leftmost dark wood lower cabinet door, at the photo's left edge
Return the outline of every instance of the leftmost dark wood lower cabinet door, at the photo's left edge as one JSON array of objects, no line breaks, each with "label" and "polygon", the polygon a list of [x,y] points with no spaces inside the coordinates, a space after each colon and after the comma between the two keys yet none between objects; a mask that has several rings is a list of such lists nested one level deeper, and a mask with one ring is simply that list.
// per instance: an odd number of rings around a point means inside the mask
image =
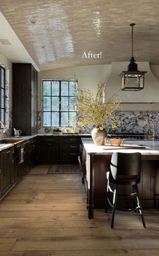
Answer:
[{"label": "leftmost dark wood lower cabinet door, at the photo's left edge", "polygon": [[11,150],[1,152],[1,193],[11,185]]}]

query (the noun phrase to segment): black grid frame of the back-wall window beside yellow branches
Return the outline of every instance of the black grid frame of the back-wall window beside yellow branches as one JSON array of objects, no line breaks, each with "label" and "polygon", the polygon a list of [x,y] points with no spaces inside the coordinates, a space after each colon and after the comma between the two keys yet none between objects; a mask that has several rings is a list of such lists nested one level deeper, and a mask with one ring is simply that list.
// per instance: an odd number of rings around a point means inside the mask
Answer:
[{"label": "black grid frame of the back-wall window beside yellow branches", "polygon": [[[52,103],[51,103],[51,110],[44,110],[44,105],[43,105],[44,97],[47,97],[47,96],[50,97],[50,98],[57,97],[57,95],[52,95],[52,86],[51,86],[51,95],[44,95],[44,89],[43,89],[44,85],[43,85],[43,83],[46,82],[46,81],[51,82],[51,85],[54,81],[59,82],[59,111],[52,110]],[[67,82],[68,83],[68,95],[61,95],[61,83],[62,82]],[[77,121],[77,110],[69,110],[69,106],[67,108],[67,111],[61,110],[61,97],[69,98],[68,102],[70,102],[70,98],[75,97],[73,95],[69,95],[69,83],[70,82],[75,82],[75,84],[77,86],[77,80],[76,79],[42,79],[42,127],[51,128],[51,127],[74,127],[74,126],[76,126],[76,123],[75,123],[75,125],[71,125],[71,122],[68,122],[68,125],[61,125],[61,113],[62,112],[68,112],[68,119],[69,119],[69,114],[71,112],[75,112],[75,119]],[[44,112],[51,112],[51,125],[50,126],[44,125]],[[52,113],[53,112],[58,112],[59,113],[59,125],[53,125],[52,126]]]}]

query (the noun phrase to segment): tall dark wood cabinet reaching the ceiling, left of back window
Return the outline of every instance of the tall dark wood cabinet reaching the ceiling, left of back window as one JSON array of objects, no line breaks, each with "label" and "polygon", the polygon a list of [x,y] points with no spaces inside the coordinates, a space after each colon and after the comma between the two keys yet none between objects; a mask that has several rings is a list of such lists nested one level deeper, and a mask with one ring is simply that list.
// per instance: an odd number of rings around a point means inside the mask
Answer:
[{"label": "tall dark wood cabinet reaching the ceiling, left of back window", "polygon": [[37,74],[32,64],[13,63],[13,127],[22,135],[37,133]]}]

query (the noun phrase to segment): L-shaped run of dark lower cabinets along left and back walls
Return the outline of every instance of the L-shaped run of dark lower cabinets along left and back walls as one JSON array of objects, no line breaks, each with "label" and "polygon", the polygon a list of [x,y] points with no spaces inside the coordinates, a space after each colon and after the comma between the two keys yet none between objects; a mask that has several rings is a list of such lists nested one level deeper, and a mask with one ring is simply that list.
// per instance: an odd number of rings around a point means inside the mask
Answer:
[{"label": "L-shaped run of dark lower cabinets along left and back walls", "polygon": [[0,199],[35,164],[77,163],[80,135],[38,135],[0,151]]}]

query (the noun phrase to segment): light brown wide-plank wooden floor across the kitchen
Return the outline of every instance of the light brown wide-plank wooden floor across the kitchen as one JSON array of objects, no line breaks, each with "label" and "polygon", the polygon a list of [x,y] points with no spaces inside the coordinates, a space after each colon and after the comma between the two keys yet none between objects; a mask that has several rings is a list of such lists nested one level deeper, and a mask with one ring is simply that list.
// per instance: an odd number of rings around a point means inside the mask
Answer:
[{"label": "light brown wide-plank wooden floor across the kitchen", "polygon": [[36,166],[0,202],[0,256],[159,255],[159,211],[110,213],[88,219],[79,174],[46,175]]}]

